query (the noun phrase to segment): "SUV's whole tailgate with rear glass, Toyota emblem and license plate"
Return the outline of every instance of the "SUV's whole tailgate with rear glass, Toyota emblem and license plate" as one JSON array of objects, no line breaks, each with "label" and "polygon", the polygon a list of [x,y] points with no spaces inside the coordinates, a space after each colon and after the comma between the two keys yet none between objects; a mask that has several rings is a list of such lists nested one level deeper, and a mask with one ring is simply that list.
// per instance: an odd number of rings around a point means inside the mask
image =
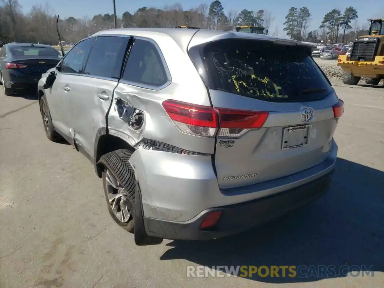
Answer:
[{"label": "SUV's whole tailgate with rear glass, Toyota emblem and license plate", "polygon": [[219,116],[220,187],[278,179],[326,160],[343,106],[310,48],[232,38],[192,46],[189,55]]}]

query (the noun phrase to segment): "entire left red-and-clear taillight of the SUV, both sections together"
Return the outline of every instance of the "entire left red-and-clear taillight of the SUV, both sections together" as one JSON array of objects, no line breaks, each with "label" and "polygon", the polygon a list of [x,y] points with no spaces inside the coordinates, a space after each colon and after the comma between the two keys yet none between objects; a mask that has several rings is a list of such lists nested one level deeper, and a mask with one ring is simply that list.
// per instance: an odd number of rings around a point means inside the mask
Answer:
[{"label": "entire left red-and-clear taillight of the SUV, both sections together", "polygon": [[269,112],[211,108],[175,100],[163,107],[180,131],[205,137],[239,137],[249,129],[263,127]]}]

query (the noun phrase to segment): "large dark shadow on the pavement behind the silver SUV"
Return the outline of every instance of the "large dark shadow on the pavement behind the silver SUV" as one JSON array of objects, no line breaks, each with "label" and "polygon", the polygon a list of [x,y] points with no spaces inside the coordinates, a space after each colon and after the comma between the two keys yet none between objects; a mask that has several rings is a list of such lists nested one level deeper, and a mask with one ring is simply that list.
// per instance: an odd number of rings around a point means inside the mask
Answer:
[{"label": "large dark shadow on the pavement behind the silver SUV", "polygon": [[[285,277],[282,270],[278,270],[280,277],[258,273],[245,277],[266,283],[317,281],[343,277],[348,271],[359,277],[362,272],[356,271],[384,271],[383,187],[384,172],[339,158],[331,190],[315,202],[231,237],[170,242],[168,246],[174,248],[160,259],[186,259],[207,267],[296,266],[295,277],[288,276],[288,269]],[[301,265],[308,269],[333,265],[334,270],[318,275],[319,271],[299,268]],[[264,275],[265,269],[261,272]]]}]

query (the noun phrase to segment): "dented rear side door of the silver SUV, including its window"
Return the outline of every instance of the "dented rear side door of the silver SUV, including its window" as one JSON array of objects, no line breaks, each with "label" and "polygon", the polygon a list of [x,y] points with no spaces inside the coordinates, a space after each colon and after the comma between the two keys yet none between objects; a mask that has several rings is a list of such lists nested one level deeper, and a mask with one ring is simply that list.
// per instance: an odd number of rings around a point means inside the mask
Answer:
[{"label": "dented rear side door of the silver SUV, including its window", "polygon": [[76,93],[71,94],[71,127],[74,141],[86,156],[94,157],[94,141],[100,128],[106,128],[106,114],[120,78],[130,36],[97,36]]}]

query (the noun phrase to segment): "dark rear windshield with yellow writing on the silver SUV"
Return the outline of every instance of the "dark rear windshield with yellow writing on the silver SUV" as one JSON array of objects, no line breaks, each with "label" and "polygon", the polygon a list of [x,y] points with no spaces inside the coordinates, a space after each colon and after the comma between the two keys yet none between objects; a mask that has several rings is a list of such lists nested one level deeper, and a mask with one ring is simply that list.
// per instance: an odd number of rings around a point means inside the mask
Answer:
[{"label": "dark rear windshield with yellow writing on the silver SUV", "polygon": [[189,54],[210,89],[273,102],[315,101],[331,91],[303,46],[230,39],[192,47]]}]

